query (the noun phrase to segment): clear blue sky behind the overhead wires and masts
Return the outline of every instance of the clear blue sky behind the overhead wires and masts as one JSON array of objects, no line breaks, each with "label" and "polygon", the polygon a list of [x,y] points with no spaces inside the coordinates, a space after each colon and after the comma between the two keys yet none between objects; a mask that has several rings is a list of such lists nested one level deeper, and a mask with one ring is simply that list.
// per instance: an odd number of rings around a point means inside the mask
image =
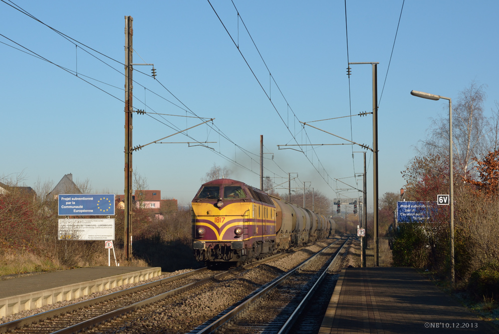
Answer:
[{"label": "clear blue sky behind the overhead wires and masts", "polygon": [[[214,141],[209,144],[213,149],[152,144],[133,154],[133,167],[147,178],[150,189],[188,204],[214,164],[230,169],[231,178],[258,187],[259,136],[263,135],[264,152],[273,153],[273,160],[272,154],[265,154],[265,175],[276,183],[284,182],[292,172],[298,173],[292,186],[302,187],[303,182],[310,181],[311,187],[331,199],[359,196],[355,190],[344,190],[349,187],[335,180],[362,187],[361,179],[356,181],[353,175],[363,172],[363,155],[354,153],[352,158],[351,145],[314,150],[303,146],[305,154],[277,147],[345,143],[308,126],[305,133],[299,121],[355,115],[372,108],[370,65],[351,65],[349,93],[344,1],[235,0],[265,66],[241,19],[238,30],[233,3],[212,0],[254,75],[208,1],[14,3],[105,56],[79,43],[76,47],[0,2],[2,35],[79,73],[76,77],[0,44],[0,176],[8,179],[22,172],[23,183],[33,186],[38,180],[56,184],[64,174],[72,173],[80,181],[88,178],[94,192],[123,193],[124,16],[131,15],[134,63],[143,62],[141,57],[154,63],[158,81],[175,95],[139,72],[149,74],[150,66],[135,66],[134,107],[181,116],[192,116],[192,111],[200,117],[215,118],[212,127],[189,130],[190,138],[180,134],[165,140]],[[379,62],[380,195],[398,193],[405,184],[400,172],[416,155],[414,146],[425,138],[430,118],[448,110],[446,100],[417,98],[410,95],[411,90],[454,99],[475,80],[488,85],[487,114],[499,100],[499,3],[406,1],[385,84],[402,0],[347,0],[346,5],[350,62]],[[0,36],[0,42],[21,48],[12,41]],[[270,80],[266,67],[277,85]],[[81,80],[82,75],[101,89]],[[161,122],[134,115],[134,146],[205,120],[154,117]],[[340,118],[311,124],[372,147],[370,115],[352,117],[351,123],[349,118]],[[353,147],[353,151],[362,150]],[[367,160],[371,202],[370,153]]]}]

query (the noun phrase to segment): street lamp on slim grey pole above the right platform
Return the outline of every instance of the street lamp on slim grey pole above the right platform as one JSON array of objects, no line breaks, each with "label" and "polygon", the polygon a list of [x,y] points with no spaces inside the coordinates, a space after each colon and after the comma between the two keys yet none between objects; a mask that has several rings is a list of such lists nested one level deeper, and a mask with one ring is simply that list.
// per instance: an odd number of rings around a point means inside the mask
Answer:
[{"label": "street lamp on slim grey pole above the right platform", "polygon": [[449,100],[449,192],[450,192],[450,209],[451,209],[451,282],[454,285],[454,182],[452,168],[452,99],[440,95],[434,95],[417,90],[412,90],[411,95],[427,98],[429,100],[439,100],[441,98]]}]

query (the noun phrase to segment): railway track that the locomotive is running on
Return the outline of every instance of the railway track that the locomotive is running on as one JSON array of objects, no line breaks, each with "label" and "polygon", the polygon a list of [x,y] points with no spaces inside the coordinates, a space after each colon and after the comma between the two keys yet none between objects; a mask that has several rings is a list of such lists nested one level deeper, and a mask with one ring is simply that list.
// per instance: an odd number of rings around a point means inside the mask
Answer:
[{"label": "railway track that the locomotive is running on", "polygon": [[[294,249],[297,251],[300,248]],[[0,333],[74,333],[110,319],[122,316],[209,281],[256,267],[287,253],[279,253],[248,265],[227,271],[201,268],[162,280],[153,281],[130,289],[71,304],[62,308],[11,321],[0,325]]]}]

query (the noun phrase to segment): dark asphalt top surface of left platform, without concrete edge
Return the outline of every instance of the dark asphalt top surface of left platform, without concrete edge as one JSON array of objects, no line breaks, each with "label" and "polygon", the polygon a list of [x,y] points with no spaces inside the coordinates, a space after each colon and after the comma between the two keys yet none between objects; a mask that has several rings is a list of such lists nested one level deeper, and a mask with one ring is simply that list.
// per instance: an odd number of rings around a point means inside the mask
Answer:
[{"label": "dark asphalt top surface of left platform, without concrete edge", "polygon": [[105,277],[124,275],[147,267],[88,267],[41,273],[0,281],[0,299],[63,287]]}]

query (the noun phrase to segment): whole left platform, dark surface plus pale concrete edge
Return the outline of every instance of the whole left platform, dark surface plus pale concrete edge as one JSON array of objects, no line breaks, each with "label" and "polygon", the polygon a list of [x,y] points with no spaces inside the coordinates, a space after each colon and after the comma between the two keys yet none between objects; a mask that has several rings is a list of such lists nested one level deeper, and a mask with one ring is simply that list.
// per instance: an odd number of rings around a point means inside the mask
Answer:
[{"label": "whole left platform, dark surface plus pale concrete edge", "polygon": [[0,281],[0,318],[161,275],[160,267],[88,267]]}]

